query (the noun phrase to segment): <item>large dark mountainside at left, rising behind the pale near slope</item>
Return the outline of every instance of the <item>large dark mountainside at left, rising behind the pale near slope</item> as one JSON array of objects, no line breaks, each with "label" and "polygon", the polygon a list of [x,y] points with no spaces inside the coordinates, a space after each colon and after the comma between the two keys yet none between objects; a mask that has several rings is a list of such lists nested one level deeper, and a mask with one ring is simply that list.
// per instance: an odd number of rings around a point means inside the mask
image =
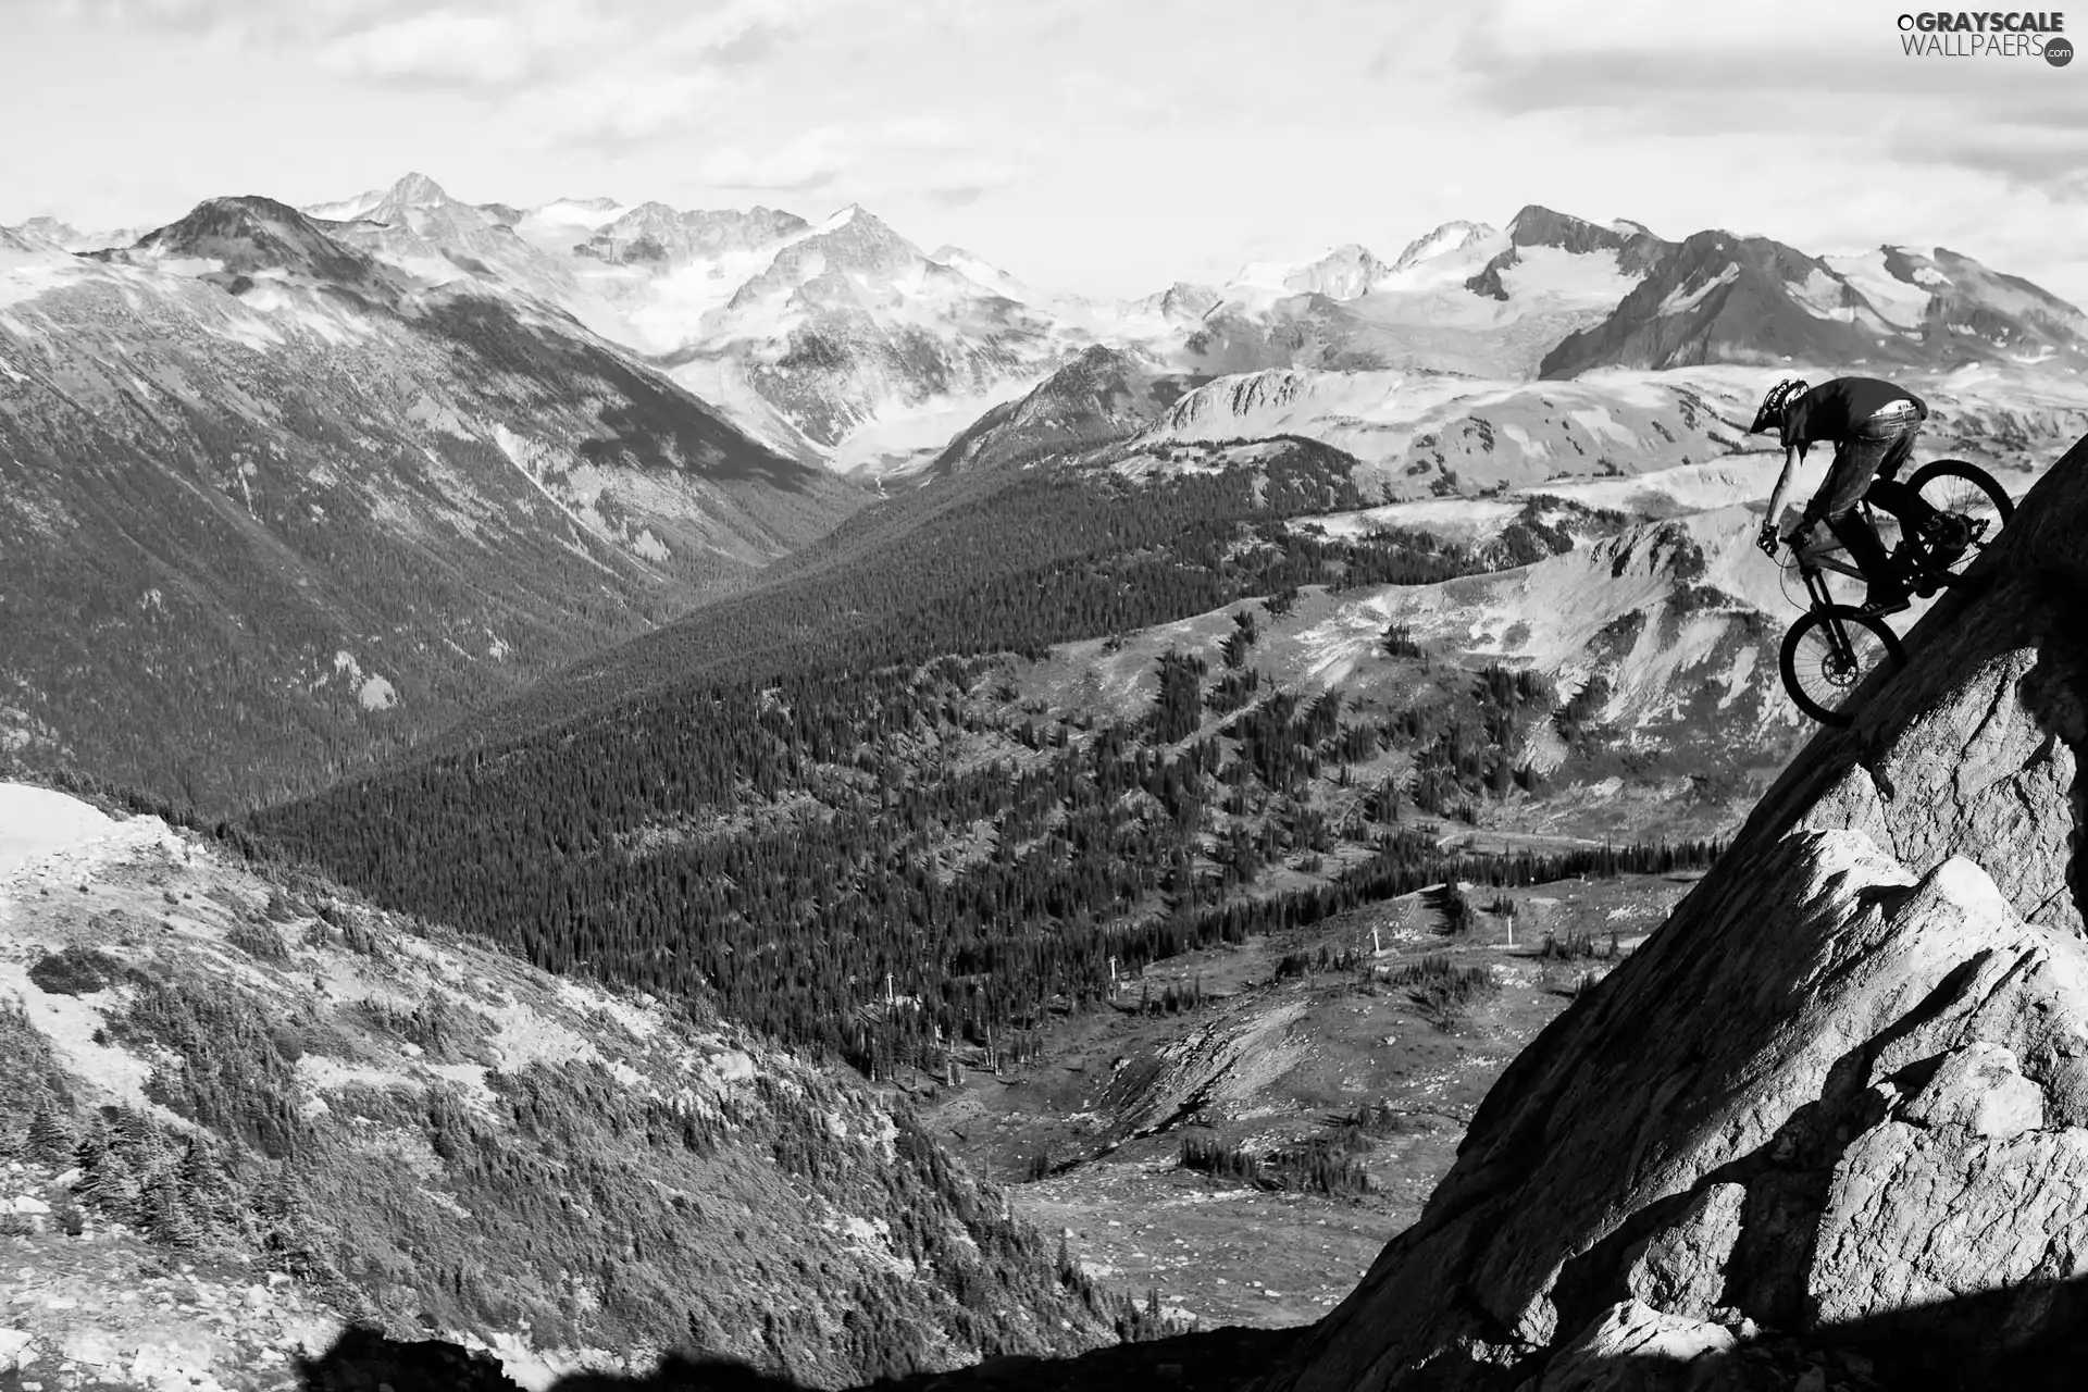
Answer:
[{"label": "large dark mountainside at left, rising behind the pale near slope", "polygon": [[0,758],[311,787],[860,501],[461,280],[265,198],[0,246]]}]

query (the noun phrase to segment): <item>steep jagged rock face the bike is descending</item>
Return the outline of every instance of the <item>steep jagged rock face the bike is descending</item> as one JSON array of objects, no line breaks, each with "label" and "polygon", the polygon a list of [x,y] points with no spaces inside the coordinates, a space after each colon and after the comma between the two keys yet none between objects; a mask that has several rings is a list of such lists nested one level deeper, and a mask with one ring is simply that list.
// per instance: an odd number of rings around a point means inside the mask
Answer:
[{"label": "steep jagged rock face the bike is descending", "polygon": [[1979,574],[1267,1386],[1754,1386],[1718,1365],[1779,1336],[1946,1386],[2080,1338],[2088,440]]}]

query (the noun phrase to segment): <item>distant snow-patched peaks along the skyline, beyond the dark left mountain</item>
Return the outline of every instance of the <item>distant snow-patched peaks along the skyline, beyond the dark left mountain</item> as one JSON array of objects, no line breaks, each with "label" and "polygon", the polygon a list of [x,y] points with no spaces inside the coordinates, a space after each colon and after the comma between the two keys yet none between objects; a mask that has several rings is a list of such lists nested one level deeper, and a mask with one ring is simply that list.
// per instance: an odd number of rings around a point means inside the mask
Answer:
[{"label": "distant snow-patched peaks along the skyline, beyond the dark left mountain", "polygon": [[[1946,248],[1812,257],[1760,236],[1668,240],[1526,207],[1453,221],[1391,261],[1345,244],[1130,303],[1046,294],[873,213],[562,198],[468,205],[426,175],[307,209],[436,284],[557,305],[658,361],[756,438],[839,470],[919,465],[1090,346],[1153,371],[1453,371],[1783,361],[2078,371],[2088,321]],[[77,236],[75,236],[77,240]]]}]

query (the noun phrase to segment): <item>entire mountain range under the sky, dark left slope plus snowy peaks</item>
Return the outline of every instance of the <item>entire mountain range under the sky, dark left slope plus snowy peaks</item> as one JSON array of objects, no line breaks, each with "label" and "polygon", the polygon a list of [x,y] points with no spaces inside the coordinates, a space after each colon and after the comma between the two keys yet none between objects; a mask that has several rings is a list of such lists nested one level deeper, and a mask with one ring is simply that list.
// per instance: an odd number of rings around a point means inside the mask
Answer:
[{"label": "entire mountain range under the sky, dark left slope plus snowy peaks", "polygon": [[775,563],[892,488],[954,515],[979,470],[1150,486],[1276,436],[1351,457],[1363,505],[1629,476],[1746,451],[1785,361],[1890,367],[1936,432],[2021,453],[2075,419],[2088,353],[2080,311],[1942,248],[1817,259],[1539,207],[1132,303],[927,255],[860,207],[518,209],[424,175],[0,236],[0,743],[65,762],[155,730],[113,772],[209,806],[806,574]]}]

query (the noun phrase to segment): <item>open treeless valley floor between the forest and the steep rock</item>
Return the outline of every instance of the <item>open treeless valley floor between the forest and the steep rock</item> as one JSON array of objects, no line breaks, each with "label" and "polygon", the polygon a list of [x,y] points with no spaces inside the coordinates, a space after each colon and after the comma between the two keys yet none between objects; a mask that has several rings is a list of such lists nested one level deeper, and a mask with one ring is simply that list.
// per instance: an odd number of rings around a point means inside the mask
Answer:
[{"label": "open treeless valley floor between the forest and the steep rock", "polygon": [[[1163,1311],[1199,1327],[1311,1323],[1420,1215],[1508,1062],[1695,879],[1468,887],[1480,908],[1462,933],[1437,895],[1401,895],[1190,952],[1128,977],[1113,1008],[1046,1029],[1036,1064],[973,1075],[963,1089],[923,1083],[917,1104],[938,1137],[1011,1187],[1019,1215],[1069,1233],[1098,1279],[1136,1298],[1157,1292]],[[1320,954],[1361,962],[1318,966]],[[1286,966],[1299,960],[1311,966]],[[1443,1002],[1426,977],[1399,983],[1407,970],[1453,979],[1439,964],[1482,973],[1487,985]],[[1205,1004],[1138,1012],[1167,991],[1199,991]],[[1366,1108],[1378,1108],[1366,1125],[1343,1125]],[[1370,1190],[1263,1192],[1182,1167],[1188,1144],[1267,1156],[1313,1137],[1353,1160]],[[1034,1177],[1040,1156],[1050,1177]]]}]

